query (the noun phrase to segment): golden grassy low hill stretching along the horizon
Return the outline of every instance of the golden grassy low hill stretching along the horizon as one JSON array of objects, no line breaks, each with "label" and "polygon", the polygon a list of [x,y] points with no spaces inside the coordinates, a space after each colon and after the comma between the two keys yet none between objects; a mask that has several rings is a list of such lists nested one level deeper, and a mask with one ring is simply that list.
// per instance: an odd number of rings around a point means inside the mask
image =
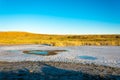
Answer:
[{"label": "golden grassy low hill stretching along the horizon", "polygon": [[49,44],[53,46],[120,46],[120,34],[47,35],[28,32],[0,32],[0,45]]}]

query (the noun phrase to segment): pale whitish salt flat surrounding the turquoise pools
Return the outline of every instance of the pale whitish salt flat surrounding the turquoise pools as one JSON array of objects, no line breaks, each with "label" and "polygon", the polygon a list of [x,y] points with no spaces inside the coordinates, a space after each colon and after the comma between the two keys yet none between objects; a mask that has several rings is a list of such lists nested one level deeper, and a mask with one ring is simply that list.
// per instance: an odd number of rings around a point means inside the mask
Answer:
[{"label": "pale whitish salt flat surrounding the turquoise pools", "polygon": [[[42,56],[24,54],[24,50],[66,50],[56,55]],[[94,57],[84,59],[81,56]],[[0,46],[0,61],[60,61],[75,63],[94,63],[112,67],[120,67],[120,46],[76,46],[54,47],[46,45]]]}]

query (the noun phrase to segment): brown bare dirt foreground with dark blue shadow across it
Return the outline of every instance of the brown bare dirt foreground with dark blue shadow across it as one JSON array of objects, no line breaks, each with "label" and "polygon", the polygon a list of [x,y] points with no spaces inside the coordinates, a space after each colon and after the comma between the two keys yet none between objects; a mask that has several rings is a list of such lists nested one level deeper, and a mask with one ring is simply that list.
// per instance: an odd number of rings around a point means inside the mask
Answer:
[{"label": "brown bare dirt foreground with dark blue shadow across it", "polygon": [[120,68],[63,62],[0,62],[0,80],[120,80]]}]

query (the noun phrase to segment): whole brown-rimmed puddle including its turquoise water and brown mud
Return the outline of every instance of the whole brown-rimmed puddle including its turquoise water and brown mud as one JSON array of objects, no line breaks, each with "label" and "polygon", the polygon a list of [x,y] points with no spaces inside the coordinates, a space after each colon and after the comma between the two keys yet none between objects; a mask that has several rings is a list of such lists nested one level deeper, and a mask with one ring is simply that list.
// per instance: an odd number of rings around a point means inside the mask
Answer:
[{"label": "whole brown-rimmed puddle including its turquoise water and brown mud", "polygon": [[56,55],[58,52],[64,52],[66,50],[26,50],[23,53],[26,54],[36,54],[36,55]]}]

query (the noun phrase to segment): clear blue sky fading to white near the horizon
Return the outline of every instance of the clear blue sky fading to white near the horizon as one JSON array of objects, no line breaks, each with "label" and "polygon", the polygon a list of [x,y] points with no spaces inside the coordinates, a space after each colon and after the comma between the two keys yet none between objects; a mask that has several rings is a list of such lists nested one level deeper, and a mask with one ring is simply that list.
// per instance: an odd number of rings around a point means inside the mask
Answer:
[{"label": "clear blue sky fading to white near the horizon", "polygon": [[120,34],[120,0],[0,0],[0,31]]}]

